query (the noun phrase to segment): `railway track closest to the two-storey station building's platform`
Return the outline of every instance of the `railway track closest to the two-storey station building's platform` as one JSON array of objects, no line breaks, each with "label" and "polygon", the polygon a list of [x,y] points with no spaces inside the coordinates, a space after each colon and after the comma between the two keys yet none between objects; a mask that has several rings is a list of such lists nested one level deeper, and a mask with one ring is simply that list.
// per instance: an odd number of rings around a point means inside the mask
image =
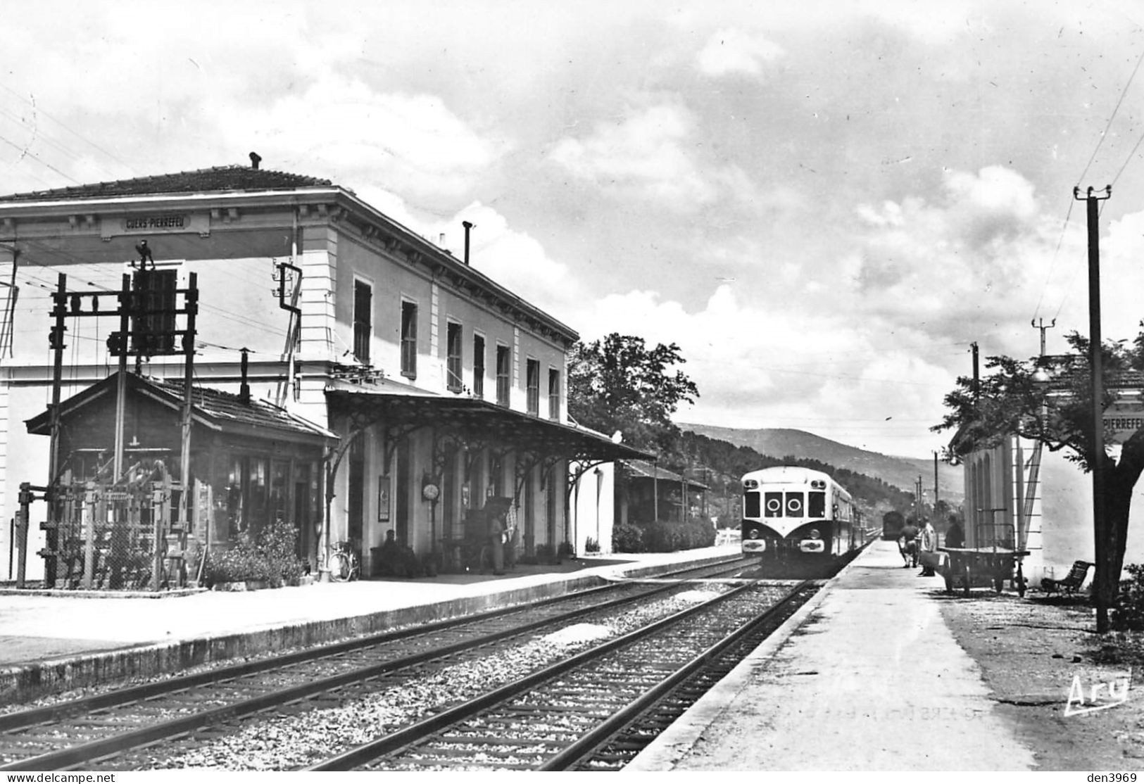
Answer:
[{"label": "railway track closest to the two-storey station building's platform", "polygon": [[[664,577],[694,581],[741,567],[742,559],[732,559]],[[88,768],[101,760],[101,766],[130,769],[133,750],[143,746],[170,738],[193,739],[196,734],[210,737],[229,733],[243,718],[260,712],[303,711],[324,702],[351,699],[356,689],[400,682],[407,678],[403,672],[439,667],[442,664],[432,663],[505,647],[523,634],[681,590],[678,582],[605,585],[7,713],[0,715],[0,770]]]}]

